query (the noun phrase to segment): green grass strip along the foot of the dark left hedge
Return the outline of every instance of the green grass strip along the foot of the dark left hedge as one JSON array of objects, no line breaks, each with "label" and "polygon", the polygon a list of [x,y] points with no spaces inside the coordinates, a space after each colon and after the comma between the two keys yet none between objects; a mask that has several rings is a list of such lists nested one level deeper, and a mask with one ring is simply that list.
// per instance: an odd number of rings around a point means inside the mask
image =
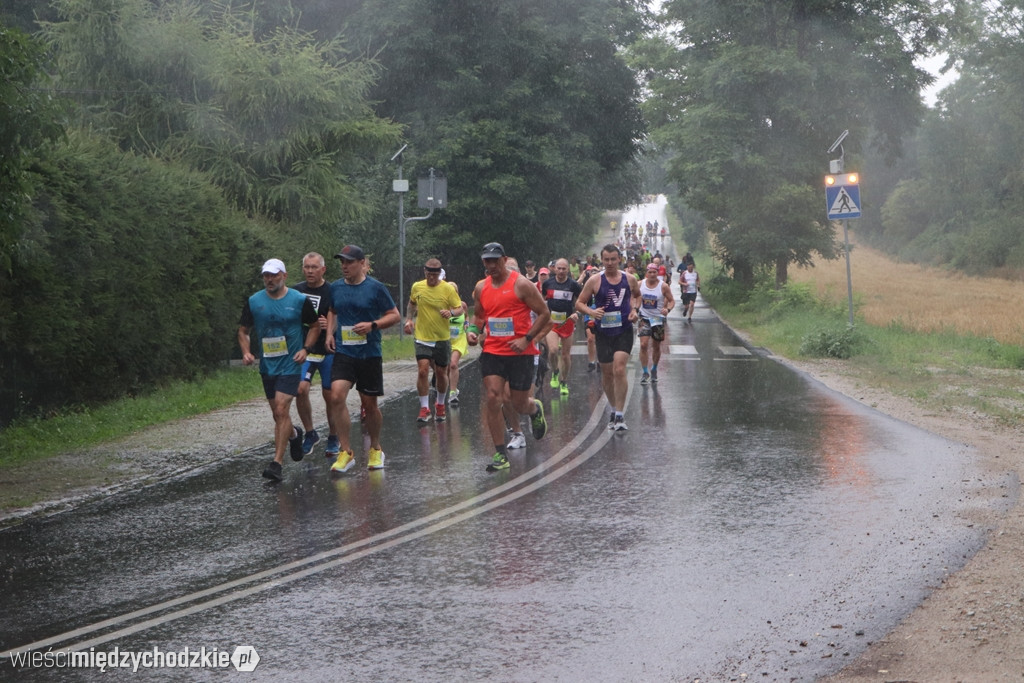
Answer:
[{"label": "green grass strip along the foot of the dark left hedge", "polygon": [[[412,358],[413,338],[385,334],[384,360]],[[225,367],[195,381],[146,394],[76,407],[47,418],[17,420],[0,430],[0,468],[114,441],[145,427],[263,397],[257,367]]]}]

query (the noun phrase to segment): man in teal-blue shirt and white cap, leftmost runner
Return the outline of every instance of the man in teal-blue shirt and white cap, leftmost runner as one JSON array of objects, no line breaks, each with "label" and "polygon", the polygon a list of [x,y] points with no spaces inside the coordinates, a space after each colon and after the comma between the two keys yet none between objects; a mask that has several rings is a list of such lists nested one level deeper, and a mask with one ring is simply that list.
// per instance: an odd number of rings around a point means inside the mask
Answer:
[{"label": "man in teal-blue shirt and white cap, leftmost runner", "polygon": [[[259,372],[263,394],[273,414],[273,460],[263,476],[281,481],[285,444],[292,460],[302,460],[302,428],[292,425],[292,399],[299,392],[302,364],[309,348],[316,343],[319,326],[309,300],[285,285],[288,273],[281,259],[263,264],[263,290],[249,297],[239,321],[239,346],[242,362],[256,362],[251,334],[255,332],[259,348]],[[303,330],[308,327],[309,331]]]}]

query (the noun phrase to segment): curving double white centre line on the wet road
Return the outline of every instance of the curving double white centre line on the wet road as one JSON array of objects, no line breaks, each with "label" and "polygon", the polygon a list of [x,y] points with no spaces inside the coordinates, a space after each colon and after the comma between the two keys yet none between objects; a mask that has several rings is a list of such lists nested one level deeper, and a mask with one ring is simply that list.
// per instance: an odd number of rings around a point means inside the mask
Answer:
[{"label": "curving double white centre line on the wet road", "polygon": [[[630,385],[629,392],[626,398],[627,402],[629,401],[629,397],[632,393],[633,393],[633,386]],[[236,591],[227,595],[214,598],[212,600],[207,600],[206,602],[201,602],[199,604],[184,607],[183,609],[178,609],[176,611],[168,612],[166,614],[162,614],[155,618],[151,618],[144,622],[139,622],[138,624],[134,624],[132,626],[128,626],[123,629],[119,629],[117,631],[112,631],[110,633],[97,636],[95,638],[91,638],[89,640],[80,641],[68,645],[67,647],[59,648],[61,650],[67,650],[67,651],[84,650],[101,643],[106,643],[112,640],[116,640],[118,638],[138,633],[140,631],[145,631],[156,626],[167,624],[168,622],[172,622],[181,618],[183,616],[194,614],[196,612],[200,612],[206,609],[210,609],[212,607],[216,607],[222,604],[233,602],[236,600],[240,600],[244,597],[254,595],[261,591],[265,591],[269,588],[299,581],[300,579],[305,579],[306,577],[319,573],[322,571],[325,571],[327,569],[336,566],[340,566],[342,564],[347,564],[349,562],[355,561],[356,559],[360,559],[368,555],[372,555],[374,553],[387,550],[389,548],[393,548],[395,546],[408,543],[410,541],[425,537],[429,533],[442,530],[461,521],[465,521],[467,519],[471,519],[473,517],[481,515],[484,512],[488,512],[497,507],[505,505],[506,503],[515,501],[521,498],[522,496],[525,496],[527,493],[532,493],[534,490],[537,490],[541,486],[546,485],[558,479],[559,477],[565,475],[567,472],[570,472],[580,465],[582,465],[584,462],[590,460],[594,456],[594,454],[596,454],[601,449],[601,446],[607,443],[607,441],[611,438],[612,435],[611,432],[602,429],[599,432],[598,437],[594,440],[594,443],[592,443],[590,447],[587,449],[587,451],[580,454],[575,458],[568,460],[565,463],[564,467],[560,467],[557,470],[549,471],[552,469],[553,466],[558,465],[562,461],[566,461],[566,459],[568,459],[569,456],[571,456],[572,453],[577,449],[579,449],[587,438],[589,438],[589,435],[598,427],[599,424],[601,427],[604,426],[603,418],[604,418],[604,408],[606,404],[607,401],[604,398],[599,400],[594,409],[593,414],[590,417],[590,420],[587,421],[587,424],[584,427],[584,429],[582,429],[579,433],[577,433],[577,436],[567,444],[562,446],[562,449],[552,458],[548,459],[543,463],[540,463],[534,469],[523,472],[514,479],[510,479],[509,481],[506,481],[505,483],[499,486],[495,486],[494,488],[490,488],[484,492],[483,494],[480,494],[479,496],[474,496],[473,498],[463,501],[462,503],[457,503],[456,505],[444,508],[443,510],[438,510],[435,513],[426,515],[411,522],[407,522],[406,524],[401,524],[400,526],[396,526],[392,529],[381,531],[380,533],[375,533],[374,536],[368,537],[366,539],[361,539],[359,541],[346,544],[344,546],[340,546],[332,550],[324,551],[322,553],[311,555],[301,560],[288,562],[287,564],[282,564],[278,567],[264,569],[263,571],[250,574],[249,577],[244,577],[242,579],[237,579],[234,581],[220,584],[218,586],[213,586],[211,588],[202,591],[189,593],[188,595],[183,595],[178,598],[166,600],[159,604],[151,605],[148,607],[143,607],[142,609],[137,609],[135,611],[128,612],[126,614],[121,614],[119,616],[114,616],[108,620],[103,620],[101,622],[84,626],[79,629],[75,629],[73,631],[68,631],[66,633],[61,633],[56,636],[52,636],[50,638],[36,641],[34,643],[28,643],[19,647],[11,648],[6,652],[0,652],[0,658],[3,657],[11,658],[15,652],[26,652],[30,650],[38,650],[50,647],[51,645],[54,645],[56,643],[73,640],[80,636],[85,636],[90,633],[95,633],[96,631],[100,631],[109,627],[116,627],[120,624],[126,624],[133,620],[142,616],[147,616],[150,614],[154,614],[156,612],[163,611],[165,609],[170,609],[173,607],[177,607],[179,605],[196,602],[197,600],[202,600],[203,598],[207,598],[209,596],[216,595],[218,593],[223,593],[224,591],[229,591],[233,588],[239,588],[247,584],[253,584],[254,582],[262,582],[241,591]],[[460,510],[472,507],[488,499],[499,497],[502,494],[508,492],[509,489],[515,488],[516,486],[519,486],[523,482],[528,481],[529,479],[532,479],[535,477],[538,477],[536,481],[529,483],[528,485],[522,486],[518,490],[509,493],[507,496],[502,496],[501,498],[498,498],[495,501],[486,503],[472,510],[463,512],[462,514],[451,517],[450,519],[442,520],[443,517],[449,517],[451,515],[454,515],[456,512],[459,512]],[[417,531],[412,530],[418,526],[423,526],[424,524],[428,524],[430,522],[434,523],[431,523],[429,526],[426,526],[425,528],[422,528]],[[411,532],[407,533],[407,531]],[[403,533],[404,536],[401,536]],[[400,537],[400,538],[393,538],[393,537]],[[373,547],[367,548],[366,546],[373,546]],[[360,548],[362,550],[358,550]],[[352,552],[352,551],[357,551],[357,552]],[[338,557],[339,555],[343,555],[343,557]],[[323,562],[321,564],[316,564],[315,566],[309,566],[330,558],[337,558],[337,559],[333,559],[328,562]],[[279,574],[283,575],[279,577]],[[273,577],[278,578],[273,579]]]}]

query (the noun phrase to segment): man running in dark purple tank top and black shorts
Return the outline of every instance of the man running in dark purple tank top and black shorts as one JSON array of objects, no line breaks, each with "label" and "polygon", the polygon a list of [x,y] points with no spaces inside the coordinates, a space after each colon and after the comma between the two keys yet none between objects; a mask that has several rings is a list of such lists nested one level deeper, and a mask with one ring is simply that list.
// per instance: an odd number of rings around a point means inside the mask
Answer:
[{"label": "man running in dark purple tank top and black shorts", "polygon": [[[601,249],[604,272],[584,285],[577,310],[596,321],[597,361],[601,366],[601,384],[611,407],[608,429],[626,431],[623,409],[629,390],[626,362],[633,351],[633,324],[640,307],[640,287],[637,279],[620,270],[623,254],[615,245]],[[587,305],[595,299],[597,307]]]}]

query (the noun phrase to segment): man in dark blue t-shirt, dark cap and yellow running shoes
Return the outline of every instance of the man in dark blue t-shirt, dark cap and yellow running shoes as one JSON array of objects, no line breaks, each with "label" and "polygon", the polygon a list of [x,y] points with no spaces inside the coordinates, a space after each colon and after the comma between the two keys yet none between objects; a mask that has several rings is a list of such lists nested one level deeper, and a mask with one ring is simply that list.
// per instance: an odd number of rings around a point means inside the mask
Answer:
[{"label": "man in dark blue t-shirt, dark cap and yellow running shoes", "polygon": [[341,449],[331,471],[344,473],[355,465],[347,407],[348,392],[353,386],[359,392],[359,401],[366,412],[364,424],[370,432],[367,468],[379,470],[384,467],[382,418],[377,407],[377,397],[384,395],[381,330],[400,323],[401,314],[387,288],[367,274],[362,249],[348,245],[335,254],[335,258],[341,259],[343,278],[331,284],[327,348],[335,354],[331,369],[331,402]]}]

